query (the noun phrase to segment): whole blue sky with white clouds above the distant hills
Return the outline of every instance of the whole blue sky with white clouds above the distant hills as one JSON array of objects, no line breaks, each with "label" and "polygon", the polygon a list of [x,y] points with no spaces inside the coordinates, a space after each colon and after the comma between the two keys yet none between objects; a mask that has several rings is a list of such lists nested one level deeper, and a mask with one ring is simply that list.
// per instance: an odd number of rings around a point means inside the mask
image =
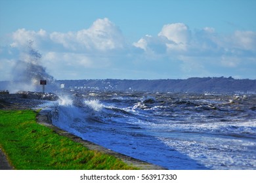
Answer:
[{"label": "whole blue sky with white clouds above the distant hills", "polygon": [[0,80],[28,41],[56,79],[256,79],[256,1],[0,0]]}]

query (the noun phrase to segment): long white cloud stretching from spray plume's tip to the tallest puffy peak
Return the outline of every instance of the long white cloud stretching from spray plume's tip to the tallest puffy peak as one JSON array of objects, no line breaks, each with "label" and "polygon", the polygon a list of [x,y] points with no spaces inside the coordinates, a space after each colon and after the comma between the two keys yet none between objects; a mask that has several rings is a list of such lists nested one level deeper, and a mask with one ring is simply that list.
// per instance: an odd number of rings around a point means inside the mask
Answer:
[{"label": "long white cloud stretching from spray plume's tip to the tallest puffy peak", "polygon": [[55,44],[54,46],[63,46],[73,52],[106,52],[125,47],[121,30],[108,18],[98,19],[88,29],[77,32],[48,34],[43,29],[39,31],[18,29],[12,33],[12,47],[28,46],[28,41],[34,41],[33,46],[37,49],[47,44]]}]

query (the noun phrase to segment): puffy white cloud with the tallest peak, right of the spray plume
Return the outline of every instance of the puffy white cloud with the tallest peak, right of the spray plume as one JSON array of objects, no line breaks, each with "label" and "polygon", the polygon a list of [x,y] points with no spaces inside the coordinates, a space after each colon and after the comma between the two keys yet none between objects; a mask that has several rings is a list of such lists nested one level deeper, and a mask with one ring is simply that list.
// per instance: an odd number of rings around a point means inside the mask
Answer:
[{"label": "puffy white cloud with the tallest peak, right of the spray plume", "polygon": [[51,40],[73,51],[121,49],[125,41],[121,31],[108,18],[96,20],[89,29],[69,33],[51,33]]}]

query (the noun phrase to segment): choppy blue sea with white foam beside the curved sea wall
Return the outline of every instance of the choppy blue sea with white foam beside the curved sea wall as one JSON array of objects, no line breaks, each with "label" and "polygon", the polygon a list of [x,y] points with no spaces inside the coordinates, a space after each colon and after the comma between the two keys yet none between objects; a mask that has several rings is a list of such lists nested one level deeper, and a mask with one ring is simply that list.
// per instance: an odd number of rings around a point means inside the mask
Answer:
[{"label": "choppy blue sea with white foam beside the curved sea wall", "polygon": [[81,92],[53,124],[167,169],[256,169],[256,95]]}]

